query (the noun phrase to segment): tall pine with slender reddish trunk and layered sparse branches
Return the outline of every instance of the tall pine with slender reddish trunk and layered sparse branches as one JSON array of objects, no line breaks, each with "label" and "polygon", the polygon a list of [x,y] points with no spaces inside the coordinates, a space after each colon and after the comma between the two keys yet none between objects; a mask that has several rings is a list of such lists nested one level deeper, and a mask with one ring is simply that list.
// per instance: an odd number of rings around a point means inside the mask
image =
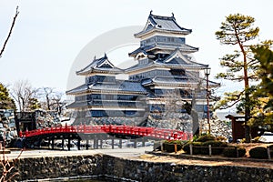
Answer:
[{"label": "tall pine with slender reddish trunk and layered sparse branches", "polygon": [[[216,32],[217,40],[224,45],[238,45],[234,54],[221,58],[220,65],[227,68],[225,73],[217,74],[217,78],[224,78],[231,81],[244,82],[244,90],[226,93],[225,98],[219,102],[218,108],[234,106],[244,99],[245,122],[248,124],[250,117],[250,90],[249,81],[258,79],[255,71],[258,69],[258,61],[251,56],[248,41],[258,36],[259,28],[253,27],[255,18],[248,15],[228,15],[226,21]],[[250,131],[246,125],[245,136],[250,142]]]}]

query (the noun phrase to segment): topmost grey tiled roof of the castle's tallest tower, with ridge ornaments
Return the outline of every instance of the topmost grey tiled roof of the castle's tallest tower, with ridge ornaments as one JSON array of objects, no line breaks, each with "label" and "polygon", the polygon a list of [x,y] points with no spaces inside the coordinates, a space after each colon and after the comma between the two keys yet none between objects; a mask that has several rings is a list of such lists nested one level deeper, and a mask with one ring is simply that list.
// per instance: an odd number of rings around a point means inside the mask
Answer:
[{"label": "topmost grey tiled roof of the castle's tallest tower, with ridge ornaments", "polygon": [[135,36],[139,38],[142,35],[146,35],[153,31],[165,31],[188,35],[192,30],[178,25],[174,14],[172,14],[172,16],[152,15],[151,11],[146,26],[141,32],[135,34]]}]

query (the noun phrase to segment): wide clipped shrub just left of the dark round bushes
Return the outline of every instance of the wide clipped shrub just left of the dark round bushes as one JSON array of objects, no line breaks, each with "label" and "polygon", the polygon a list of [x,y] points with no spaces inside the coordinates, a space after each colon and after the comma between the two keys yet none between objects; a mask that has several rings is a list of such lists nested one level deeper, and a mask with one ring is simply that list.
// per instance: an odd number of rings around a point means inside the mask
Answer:
[{"label": "wide clipped shrub just left of the dark round bushes", "polygon": [[211,146],[211,154],[212,155],[221,154],[224,147],[227,147],[226,142],[208,140],[207,142],[202,143],[202,148],[201,148],[200,153],[204,154],[204,155],[208,155],[209,154],[209,148],[208,148],[209,145]]}]

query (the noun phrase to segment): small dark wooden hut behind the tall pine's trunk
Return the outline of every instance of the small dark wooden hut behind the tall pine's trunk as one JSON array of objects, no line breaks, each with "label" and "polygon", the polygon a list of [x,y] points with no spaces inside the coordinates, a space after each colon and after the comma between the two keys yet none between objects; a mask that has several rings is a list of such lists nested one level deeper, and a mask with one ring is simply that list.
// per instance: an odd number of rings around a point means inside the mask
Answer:
[{"label": "small dark wooden hut behind the tall pine's trunk", "polygon": [[[245,138],[245,116],[244,115],[227,115],[226,118],[231,120],[232,142]],[[251,128],[251,136],[258,136],[258,128]]]}]

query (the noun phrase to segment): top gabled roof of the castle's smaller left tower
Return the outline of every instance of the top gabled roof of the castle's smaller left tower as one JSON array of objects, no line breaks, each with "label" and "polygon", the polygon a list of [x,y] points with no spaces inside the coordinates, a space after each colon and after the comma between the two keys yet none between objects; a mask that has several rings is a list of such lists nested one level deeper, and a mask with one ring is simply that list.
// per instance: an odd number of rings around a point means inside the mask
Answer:
[{"label": "top gabled roof of the castle's smaller left tower", "polygon": [[104,73],[114,73],[121,74],[123,70],[114,66],[109,60],[108,57],[103,56],[98,59],[96,57],[94,60],[85,68],[76,72],[76,75],[87,75],[92,72],[104,72]]}]

